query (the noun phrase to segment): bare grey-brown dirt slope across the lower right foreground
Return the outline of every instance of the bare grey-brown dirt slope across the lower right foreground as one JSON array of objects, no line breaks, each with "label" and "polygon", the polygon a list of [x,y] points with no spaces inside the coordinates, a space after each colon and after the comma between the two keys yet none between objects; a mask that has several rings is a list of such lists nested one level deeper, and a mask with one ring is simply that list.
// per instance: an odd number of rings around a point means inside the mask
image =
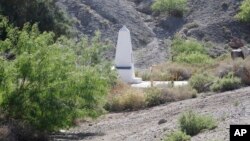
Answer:
[{"label": "bare grey-brown dirt slope across the lower right foreground", "polygon": [[[230,124],[250,124],[250,87],[141,111],[107,114],[96,122],[57,134],[54,140],[159,141],[178,128],[178,117],[190,109],[211,114],[218,121],[216,129],[204,131],[192,137],[192,141],[227,141]],[[166,122],[158,124],[161,119]]]}]

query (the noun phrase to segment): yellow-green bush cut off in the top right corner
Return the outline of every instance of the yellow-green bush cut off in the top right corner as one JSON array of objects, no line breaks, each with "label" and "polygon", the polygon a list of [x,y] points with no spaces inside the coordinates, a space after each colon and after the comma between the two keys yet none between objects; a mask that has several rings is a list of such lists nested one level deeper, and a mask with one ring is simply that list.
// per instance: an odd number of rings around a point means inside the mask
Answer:
[{"label": "yellow-green bush cut off in the top right corner", "polygon": [[243,22],[250,22],[250,0],[244,0],[240,6],[240,12],[236,18]]}]

